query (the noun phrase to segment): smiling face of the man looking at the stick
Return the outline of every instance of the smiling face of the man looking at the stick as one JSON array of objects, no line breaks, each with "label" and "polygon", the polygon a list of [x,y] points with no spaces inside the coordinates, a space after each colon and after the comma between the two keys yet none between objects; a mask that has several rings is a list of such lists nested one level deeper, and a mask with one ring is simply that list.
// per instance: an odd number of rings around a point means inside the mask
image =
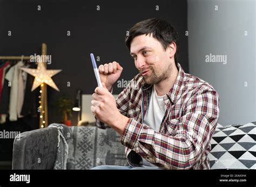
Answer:
[{"label": "smiling face of the man looking at the stick", "polygon": [[165,51],[152,34],[133,38],[130,49],[135,66],[147,84],[158,84],[170,77],[172,64],[169,48]]}]

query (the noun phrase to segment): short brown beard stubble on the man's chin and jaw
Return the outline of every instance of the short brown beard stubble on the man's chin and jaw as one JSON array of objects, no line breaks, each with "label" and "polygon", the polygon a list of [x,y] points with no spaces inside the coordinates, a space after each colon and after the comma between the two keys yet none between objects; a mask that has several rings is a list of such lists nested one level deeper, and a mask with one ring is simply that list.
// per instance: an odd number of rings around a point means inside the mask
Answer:
[{"label": "short brown beard stubble on the man's chin and jaw", "polygon": [[172,64],[169,64],[168,68],[163,73],[157,73],[151,66],[149,69],[151,74],[143,76],[144,81],[147,84],[158,84],[161,81],[169,79],[172,73]]}]

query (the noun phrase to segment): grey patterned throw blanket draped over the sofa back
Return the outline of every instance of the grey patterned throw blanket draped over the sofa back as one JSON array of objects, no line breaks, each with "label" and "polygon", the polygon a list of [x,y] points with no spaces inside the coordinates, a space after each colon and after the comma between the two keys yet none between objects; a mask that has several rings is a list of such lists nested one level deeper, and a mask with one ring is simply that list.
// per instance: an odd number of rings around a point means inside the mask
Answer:
[{"label": "grey patterned throw blanket draped over the sofa back", "polygon": [[51,124],[58,129],[58,148],[53,169],[91,169],[100,165],[127,165],[125,147],[112,128]]}]

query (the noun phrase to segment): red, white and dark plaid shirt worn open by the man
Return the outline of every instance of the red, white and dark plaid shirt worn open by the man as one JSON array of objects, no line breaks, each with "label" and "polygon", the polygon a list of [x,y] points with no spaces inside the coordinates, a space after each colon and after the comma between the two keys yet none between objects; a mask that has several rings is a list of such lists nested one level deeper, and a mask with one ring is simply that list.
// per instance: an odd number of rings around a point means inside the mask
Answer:
[{"label": "red, white and dark plaid shirt worn open by the man", "polygon": [[[120,141],[126,147],[127,162],[138,167],[141,157],[163,169],[210,169],[207,157],[210,140],[219,118],[219,95],[207,82],[179,73],[164,96],[167,106],[159,132],[143,125],[152,85],[136,75],[118,95],[117,108],[128,117]],[[96,119],[99,128],[107,125]]]}]

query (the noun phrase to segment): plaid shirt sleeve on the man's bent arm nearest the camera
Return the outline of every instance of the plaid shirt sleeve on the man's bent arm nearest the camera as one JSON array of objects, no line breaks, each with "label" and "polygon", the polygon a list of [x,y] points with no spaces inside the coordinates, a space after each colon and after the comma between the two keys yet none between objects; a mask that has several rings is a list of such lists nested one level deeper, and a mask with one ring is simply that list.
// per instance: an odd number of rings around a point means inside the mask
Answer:
[{"label": "plaid shirt sleeve on the man's bent arm nearest the camera", "polygon": [[219,118],[219,96],[211,87],[201,87],[186,102],[184,115],[167,120],[175,135],[152,130],[130,118],[120,137],[122,144],[148,162],[164,169],[190,169],[200,162],[209,146]]}]

